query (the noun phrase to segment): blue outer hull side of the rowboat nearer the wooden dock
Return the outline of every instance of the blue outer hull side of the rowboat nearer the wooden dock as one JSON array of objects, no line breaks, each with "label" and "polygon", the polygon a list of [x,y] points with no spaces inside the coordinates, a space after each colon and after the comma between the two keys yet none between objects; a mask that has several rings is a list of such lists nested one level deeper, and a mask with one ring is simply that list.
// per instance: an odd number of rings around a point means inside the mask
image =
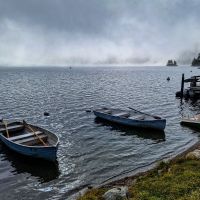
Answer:
[{"label": "blue outer hull side of the rowboat nearer the wooden dock", "polygon": [[136,120],[136,119],[128,119],[122,118],[118,116],[113,116],[109,114],[105,114],[98,111],[93,111],[96,117],[99,117],[103,120],[107,120],[110,122],[118,123],[124,126],[132,126],[137,128],[146,128],[146,129],[155,129],[163,131],[166,126],[165,119],[156,119],[156,120]]}]

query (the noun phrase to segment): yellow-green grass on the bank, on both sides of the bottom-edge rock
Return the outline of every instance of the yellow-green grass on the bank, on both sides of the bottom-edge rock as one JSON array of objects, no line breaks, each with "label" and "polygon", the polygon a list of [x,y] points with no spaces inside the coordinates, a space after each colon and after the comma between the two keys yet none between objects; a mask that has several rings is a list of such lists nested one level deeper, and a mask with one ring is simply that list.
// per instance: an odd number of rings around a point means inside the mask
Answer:
[{"label": "yellow-green grass on the bank, on both sides of the bottom-edge rock", "polygon": [[[130,199],[197,200],[200,199],[200,161],[179,158],[160,165],[129,183]],[[91,189],[79,200],[101,200],[112,187]]]}]

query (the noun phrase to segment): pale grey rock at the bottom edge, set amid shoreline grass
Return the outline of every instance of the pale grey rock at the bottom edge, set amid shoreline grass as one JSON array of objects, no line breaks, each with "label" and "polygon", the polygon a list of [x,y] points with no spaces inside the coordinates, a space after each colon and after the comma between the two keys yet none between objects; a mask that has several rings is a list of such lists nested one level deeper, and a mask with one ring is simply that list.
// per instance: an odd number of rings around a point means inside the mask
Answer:
[{"label": "pale grey rock at the bottom edge, set amid shoreline grass", "polygon": [[108,190],[103,198],[105,200],[127,200],[128,199],[128,187],[116,187]]}]

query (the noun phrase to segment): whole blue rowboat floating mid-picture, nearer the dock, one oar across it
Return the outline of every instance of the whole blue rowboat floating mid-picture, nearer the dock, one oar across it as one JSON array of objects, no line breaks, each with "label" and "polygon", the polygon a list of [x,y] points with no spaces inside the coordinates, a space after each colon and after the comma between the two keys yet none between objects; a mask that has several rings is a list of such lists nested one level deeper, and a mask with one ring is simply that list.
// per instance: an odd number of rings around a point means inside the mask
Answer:
[{"label": "whole blue rowboat floating mid-picture, nearer the dock, one oar across it", "polygon": [[96,117],[125,126],[156,129],[160,131],[163,131],[166,126],[166,119],[162,119],[158,116],[145,114],[133,109],[121,110],[112,108],[102,108],[94,110],[93,112]]}]

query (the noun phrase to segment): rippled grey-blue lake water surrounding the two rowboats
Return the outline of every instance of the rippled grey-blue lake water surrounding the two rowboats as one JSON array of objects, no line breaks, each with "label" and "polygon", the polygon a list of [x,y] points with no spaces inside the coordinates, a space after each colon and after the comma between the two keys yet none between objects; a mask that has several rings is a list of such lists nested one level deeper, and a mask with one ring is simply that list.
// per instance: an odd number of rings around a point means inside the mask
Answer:
[{"label": "rippled grey-blue lake water surrounding the two rowboats", "polygon": [[[190,77],[200,70],[0,68],[0,116],[26,119],[60,138],[57,164],[26,159],[0,143],[0,199],[68,199],[88,184],[135,173],[194,144],[199,133],[179,121],[198,113],[200,102],[175,98],[182,73]],[[102,106],[130,106],[160,115],[167,119],[165,132],[111,126],[85,112]],[[50,116],[43,116],[44,111]]]}]

